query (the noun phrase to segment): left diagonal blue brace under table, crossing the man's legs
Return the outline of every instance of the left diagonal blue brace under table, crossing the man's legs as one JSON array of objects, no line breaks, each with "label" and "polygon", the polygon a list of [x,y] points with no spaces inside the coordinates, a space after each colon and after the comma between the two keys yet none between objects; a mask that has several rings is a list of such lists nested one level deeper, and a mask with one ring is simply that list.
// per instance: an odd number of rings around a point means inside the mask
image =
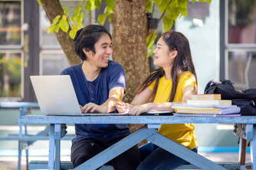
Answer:
[{"label": "left diagonal blue brace under table, crossing the man's legs", "polygon": [[148,136],[151,136],[155,132],[155,129],[142,128],[125,137],[124,139],[118,141],[114,145],[109,146],[109,148],[107,148],[106,150],[100,152],[99,154],[95,155],[94,157],[74,169],[97,169],[103,164],[106,164],[106,162],[108,162],[109,160],[112,160],[116,156],[136,145],[143,139],[148,138]]}]

